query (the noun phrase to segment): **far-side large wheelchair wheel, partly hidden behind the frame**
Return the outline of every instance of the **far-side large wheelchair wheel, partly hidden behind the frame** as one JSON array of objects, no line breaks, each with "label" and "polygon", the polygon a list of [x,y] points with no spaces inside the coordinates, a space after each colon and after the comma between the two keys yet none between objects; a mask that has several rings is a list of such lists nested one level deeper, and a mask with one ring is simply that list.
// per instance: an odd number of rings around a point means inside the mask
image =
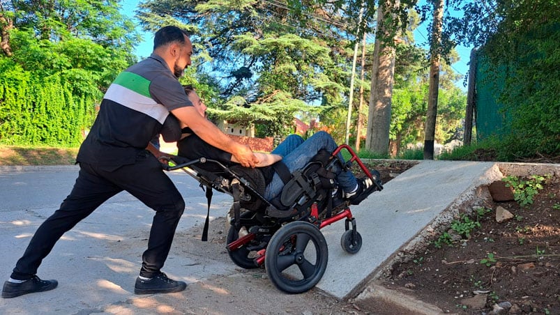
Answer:
[{"label": "far-side large wheelchair wheel, partly hidden behind the frame", "polygon": [[[249,222],[252,222],[252,220],[250,220],[252,215],[254,215],[254,213],[245,212],[241,214],[241,218],[247,219],[249,220]],[[245,223],[247,222],[245,221]],[[255,220],[253,224],[247,224],[248,226],[245,226],[245,229],[249,229],[250,226],[255,224],[258,224],[257,220]],[[227,231],[226,243],[227,244],[232,243],[234,240],[237,240],[238,238],[239,238],[239,229],[236,229],[234,225],[230,224],[229,230]],[[257,246],[257,248],[255,248],[255,246]],[[255,269],[255,268],[259,268],[259,266],[257,265],[257,263],[255,263],[254,260],[258,256],[257,251],[263,248],[264,246],[262,245],[259,246],[258,243],[255,242],[255,240],[252,240],[245,246],[239,247],[239,249],[236,249],[234,251],[228,250],[227,254],[229,254],[229,258],[231,258],[232,261],[237,266],[244,269]]]}]

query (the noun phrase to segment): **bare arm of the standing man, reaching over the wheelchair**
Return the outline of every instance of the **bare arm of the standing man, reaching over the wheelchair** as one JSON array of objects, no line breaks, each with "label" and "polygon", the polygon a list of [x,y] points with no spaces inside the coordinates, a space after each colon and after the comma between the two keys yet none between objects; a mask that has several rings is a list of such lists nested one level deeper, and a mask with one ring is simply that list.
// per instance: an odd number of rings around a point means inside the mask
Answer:
[{"label": "bare arm of the standing man, reaching over the wheelchair", "polygon": [[201,116],[195,107],[181,107],[171,111],[181,123],[195,132],[202,140],[211,146],[232,153],[239,164],[244,167],[255,167],[259,163],[257,156],[244,144],[227,137],[225,133],[216,127],[211,121]]}]

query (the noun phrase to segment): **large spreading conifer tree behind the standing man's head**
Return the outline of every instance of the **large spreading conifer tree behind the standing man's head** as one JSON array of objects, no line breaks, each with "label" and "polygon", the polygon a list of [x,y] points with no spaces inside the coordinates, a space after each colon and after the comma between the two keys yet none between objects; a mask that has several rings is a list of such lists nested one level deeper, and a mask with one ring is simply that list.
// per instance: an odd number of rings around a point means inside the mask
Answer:
[{"label": "large spreading conifer tree behind the standing man's head", "polygon": [[220,98],[210,105],[221,109],[220,117],[266,121],[275,125],[268,130],[281,131],[298,111],[328,121],[344,106],[351,58],[346,32],[356,23],[338,12],[298,1],[147,1],[139,18],[146,29],[173,23],[192,31],[196,75],[219,78]]}]

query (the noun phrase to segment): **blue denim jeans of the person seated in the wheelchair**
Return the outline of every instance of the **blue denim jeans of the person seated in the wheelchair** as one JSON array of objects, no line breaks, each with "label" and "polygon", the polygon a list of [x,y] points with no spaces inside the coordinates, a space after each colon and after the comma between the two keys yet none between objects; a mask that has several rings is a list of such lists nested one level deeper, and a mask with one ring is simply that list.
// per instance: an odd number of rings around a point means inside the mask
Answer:
[{"label": "blue denim jeans of the person seated in the wheelchair", "polygon": [[[297,169],[305,167],[321,148],[331,153],[338,148],[338,145],[328,132],[319,131],[305,141],[299,135],[289,135],[271,153],[281,155],[282,162],[286,164],[290,173],[292,173]],[[338,153],[337,156],[343,161],[342,154]],[[351,171],[342,171],[338,168],[333,169],[333,171],[337,174],[336,179],[342,190],[352,192],[356,189],[358,182]],[[283,187],[282,179],[275,173],[271,183],[266,186],[264,197],[267,200],[273,199],[282,192]]]}]

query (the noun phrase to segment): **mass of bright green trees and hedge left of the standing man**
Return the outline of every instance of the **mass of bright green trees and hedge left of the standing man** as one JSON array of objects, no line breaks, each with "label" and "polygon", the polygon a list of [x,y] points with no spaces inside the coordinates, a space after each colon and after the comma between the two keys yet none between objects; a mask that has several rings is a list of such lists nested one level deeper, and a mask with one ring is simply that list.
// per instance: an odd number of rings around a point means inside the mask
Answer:
[{"label": "mass of bright green trees and hedge left of the standing man", "polygon": [[0,17],[13,22],[2,38],[13,54],[0,55],[0,143],[82,142],[103,91],[135,61],[139,36],[118,3],[10,1],[1,7]]}]

